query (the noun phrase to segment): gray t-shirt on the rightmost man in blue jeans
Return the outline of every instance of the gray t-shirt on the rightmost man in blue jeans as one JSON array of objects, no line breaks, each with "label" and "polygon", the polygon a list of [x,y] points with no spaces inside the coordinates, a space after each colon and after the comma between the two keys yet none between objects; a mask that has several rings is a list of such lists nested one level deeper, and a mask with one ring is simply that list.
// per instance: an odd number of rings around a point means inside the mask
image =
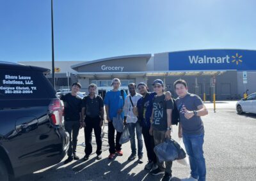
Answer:
[{"label": "gray t-shirt on the rightmost man in blue jeans", "polygon": [[197,106],[203,105],[202,99],[195,94],[187,94],[184,98],[176,99],[177,108],[180,113],[180,122],[182,124],[182,131],[186,134],[202,134],[204,133],[204,124],[201,117],[193,116],[191,119],[186,119],[182,106],[185,106],[189,111],[198,110]]}]

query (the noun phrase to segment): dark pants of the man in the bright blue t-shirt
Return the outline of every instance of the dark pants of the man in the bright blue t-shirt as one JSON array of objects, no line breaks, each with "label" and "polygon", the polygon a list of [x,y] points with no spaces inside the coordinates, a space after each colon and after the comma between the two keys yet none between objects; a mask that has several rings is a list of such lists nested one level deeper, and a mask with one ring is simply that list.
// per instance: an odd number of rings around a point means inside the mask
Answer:
[{"label": "dark pants of the man in the bright blue t-shirt", "polygon": [[120,132],[116,131],[116,143],[115,143],[115,127],[113,126],[113,121],[108,122],[108,144],[109,144],[109,153],[115,154],[116,151],[120,151],[122,145],[119,144],[121,137]]}]

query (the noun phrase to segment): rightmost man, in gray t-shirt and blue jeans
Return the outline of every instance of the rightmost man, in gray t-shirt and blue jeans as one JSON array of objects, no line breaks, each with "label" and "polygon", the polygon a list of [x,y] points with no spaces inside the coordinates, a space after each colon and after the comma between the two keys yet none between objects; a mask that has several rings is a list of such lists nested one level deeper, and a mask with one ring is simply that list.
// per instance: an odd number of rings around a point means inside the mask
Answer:
[{"label": "rightmost man, in gray t-shirt and blue jeans", "polygon": [[205,180],[206,167],[204,159],[204,124],[201,117],[208,114],[202,99],[189,94],[185,80],[174,82],[179,96],[177,107],[180,112],[179,138],[183,138],[189,156],[191,175],[183,180]]}]

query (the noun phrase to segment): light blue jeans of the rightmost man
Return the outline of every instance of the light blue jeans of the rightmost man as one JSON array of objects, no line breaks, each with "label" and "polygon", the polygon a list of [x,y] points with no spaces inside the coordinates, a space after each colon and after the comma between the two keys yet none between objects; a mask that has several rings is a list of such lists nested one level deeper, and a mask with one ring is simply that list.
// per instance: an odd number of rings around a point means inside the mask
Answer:
[{"label": "light blue jeans of the rightmost man", "polygon": [[191,176],[204,181],[206,175],[206,166],[204,159],[204,133],[199,135],[190,135],[183,133],[182,135],[187,154],[189,156]]}]

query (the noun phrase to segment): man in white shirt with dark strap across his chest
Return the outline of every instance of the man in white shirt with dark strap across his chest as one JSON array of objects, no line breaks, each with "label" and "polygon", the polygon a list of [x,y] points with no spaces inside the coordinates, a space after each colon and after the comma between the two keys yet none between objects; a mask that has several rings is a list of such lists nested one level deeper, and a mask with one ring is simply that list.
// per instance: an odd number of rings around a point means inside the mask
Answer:
[{"label": "man in white shirt with dark strap across his chest", "polygon": [[134,109],[136,108],[138,99],[142,96],[136,92],[135,83],[129,83],[128,89],[130,94],[125,98],[124,103],[124,122],[127,124],[129,133],[131,136],[131,156],[129,156],[129,160],[133,160],[136,158],[136,143],[135,143],[135,129],[136,136],[138,140],[138,162],[143,163],[143,141],[142,141],[142,127],[140,122],[138,122],[138,118],[134,115]]}]

